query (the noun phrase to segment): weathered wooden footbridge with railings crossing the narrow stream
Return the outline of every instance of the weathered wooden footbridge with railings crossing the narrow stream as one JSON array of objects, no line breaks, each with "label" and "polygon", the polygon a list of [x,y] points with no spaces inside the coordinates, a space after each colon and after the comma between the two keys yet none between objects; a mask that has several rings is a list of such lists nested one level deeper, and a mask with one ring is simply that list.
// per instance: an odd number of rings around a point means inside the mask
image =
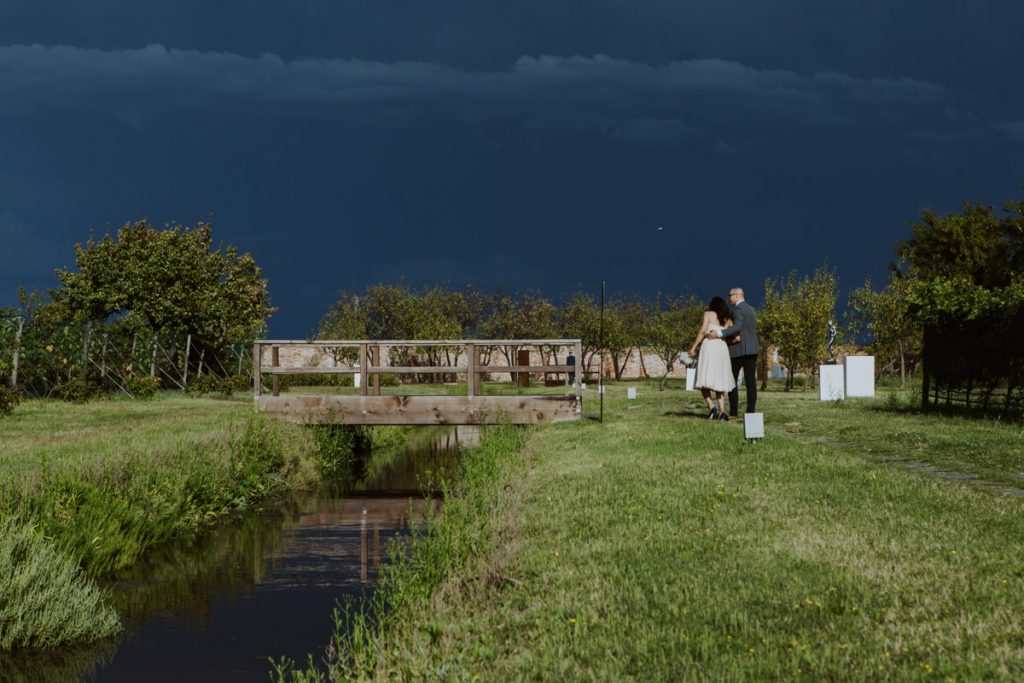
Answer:
[{"label": "weathered wooden footbridge with railings crossing the narrow stream", "polygon": [[[530,365],[526,350],[553,356],[571,351],[575,366]],[[495,349],[518,352],[520,365],[493,365]],[[426,350],[449,365],[390,365],[392,358],[419,360]],[[545,351],[544,354],[540,351]],[[387,351],[382,360],[382,351]],[[454,353],[454,355],[453,355]],[[511,353],[511,351],[510,351]],[[497,354],[500,355],[500,354]],[[459,360],[463,364],[459,365]],[[479,425],[532,424],[578,420],[583,415],[583,348],[579,339],[472,339],[472,340],[316,340],[257,341],[253,346],[253,388],[256,410],[268,416],[302,424],[348,425]],[[549,358],[550,359],[550,358]],[[525,362],[523,362],[525,360]],[[501,394],[501,387],[485,386],[484,375],[510,374],[519,380],[515,394]],[[564,393],[522,393],[530,374],[574,373]],[[281,378],[295,375],[353,375],[353,393],[331,393],[336,387],[305,387],[302,393],[281,392]],[[263,376],[271,377],[270,395],[263,393]],[[433,385],[443,394],[402,393],[403,388],[386,387],[382,376],[446,376],[455,384]],[[462,381],[458,381],[458,380]],[[524,381],[525,380],[525,381]],[[465,387],[465,391],[462,391]],[[484,391],[485,390],[485,391]],[[557,389],[556,389],[557,390]],[[394,393],[392,393],[392,391]]]}]

